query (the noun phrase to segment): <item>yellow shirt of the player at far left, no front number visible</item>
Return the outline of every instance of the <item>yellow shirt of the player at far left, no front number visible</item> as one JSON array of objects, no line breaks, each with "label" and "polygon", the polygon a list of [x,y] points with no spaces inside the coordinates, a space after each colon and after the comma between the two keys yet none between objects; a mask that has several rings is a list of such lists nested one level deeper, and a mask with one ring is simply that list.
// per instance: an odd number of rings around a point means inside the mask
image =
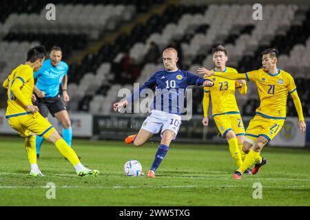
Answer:
[{"label": "yellow shirt of the player at far left, no front number visible", "polygon": [[[14,97],[11,91],[12,85],[20,80],[22,85],[20,87],[21,94],[25,100],[18,100]],[[32,93],[34,89],[33,70],[29,65],[19,65],[8,76],[8,107],[6,109],[6,116],[21,115],[30,113],[25,107],[25,104],[32,104]],[[5,82],[6,83],[6,82]],[[4,83],[3,83],[4,85]]]}]

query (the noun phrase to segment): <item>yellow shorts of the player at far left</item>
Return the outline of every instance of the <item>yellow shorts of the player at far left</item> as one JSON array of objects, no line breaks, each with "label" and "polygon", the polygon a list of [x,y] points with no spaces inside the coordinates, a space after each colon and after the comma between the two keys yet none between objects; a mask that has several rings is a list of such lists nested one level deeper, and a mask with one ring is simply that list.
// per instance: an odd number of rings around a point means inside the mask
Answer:
[{"label": "yellow shorts of the player at far left", "polygon": [[37,113],[21,114],[18,116],[7,116],[8,123],[17,131],[21,137],[29,137],[32,133],[47,139],[55,130],[52,124],[48,122],[43,116]]}]

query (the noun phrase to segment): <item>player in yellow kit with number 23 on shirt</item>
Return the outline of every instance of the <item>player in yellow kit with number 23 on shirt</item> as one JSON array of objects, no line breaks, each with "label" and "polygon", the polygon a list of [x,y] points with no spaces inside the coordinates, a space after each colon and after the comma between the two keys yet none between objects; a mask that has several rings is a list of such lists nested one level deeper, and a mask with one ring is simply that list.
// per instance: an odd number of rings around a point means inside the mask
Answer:
[{"label": "player in yellow kit with number 23 on shirt", "polygon": [[[226,67],[227,51],[223,45],[218,45],[212,50],[212,61],[215,65],[213,72],[235,72],[236,69]],[[204,87],[203,96],[203,125],[209,124],[208,109],[211,97],[212,116],[218,127],[218,131],[229,144],[229,151],[234,158],[237,167],[240,167],[245,159],[242,144],[245,137],[245,127],[236,102],[235,91],[238,88],[240,94],[247,94],[247,83],[245,80],[227,80],[217,76],[205,77],[214,83],[214,87]],[[245,173],[251,174],[248,168]]]}]

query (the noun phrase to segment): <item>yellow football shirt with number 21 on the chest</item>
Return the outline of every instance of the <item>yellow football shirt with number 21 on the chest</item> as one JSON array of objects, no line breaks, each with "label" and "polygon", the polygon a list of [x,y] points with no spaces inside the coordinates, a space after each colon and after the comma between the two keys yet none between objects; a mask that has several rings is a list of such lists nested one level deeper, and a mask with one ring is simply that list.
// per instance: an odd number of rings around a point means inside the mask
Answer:
[{"label": "yellow football shirt with number 21 on the chest", "polygon": [[266,118],[285,119],[287,115],[287,96],[296,91],[291,74],[278,69],[278,73],[269,74],[264,69],[245,73],[247,81],[256,83],[260,106],[256,114]]}]

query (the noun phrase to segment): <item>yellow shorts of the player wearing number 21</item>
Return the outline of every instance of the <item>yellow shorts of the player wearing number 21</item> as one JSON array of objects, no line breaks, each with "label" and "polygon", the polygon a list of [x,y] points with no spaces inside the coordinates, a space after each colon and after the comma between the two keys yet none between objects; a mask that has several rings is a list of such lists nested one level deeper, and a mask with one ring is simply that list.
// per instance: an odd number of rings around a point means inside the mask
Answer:
[{"label": "yellow shorts of the player wearing number 21", "polygon": [[249,122],[245,132],[245,141],[254,144],[259,136],[263,136],[270,142],[280,132],[284,123],[285,120],[265,118],[257,114]]}]

